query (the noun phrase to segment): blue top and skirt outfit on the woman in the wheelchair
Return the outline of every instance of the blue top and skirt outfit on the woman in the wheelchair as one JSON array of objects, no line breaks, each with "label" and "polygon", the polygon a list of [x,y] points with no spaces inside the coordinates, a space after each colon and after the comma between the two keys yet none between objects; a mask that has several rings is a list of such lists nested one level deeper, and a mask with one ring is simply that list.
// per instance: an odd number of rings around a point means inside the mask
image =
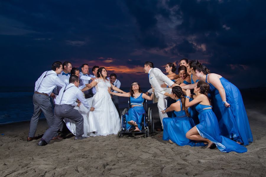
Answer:
[{"label": "blue top and skirt outfit on the woman in the wheelchair", "polygon": [[139,129],[142,128],[142,114],[145,114],[145,109],[143,108],[143,101],[142,93],[137,98],[130,96],[131,105],[138,105],[130,108],[125,114],[126,116],[126,130],[133,128],[133,125],[129,125],[127,122],[133,120],[138,124]]}]

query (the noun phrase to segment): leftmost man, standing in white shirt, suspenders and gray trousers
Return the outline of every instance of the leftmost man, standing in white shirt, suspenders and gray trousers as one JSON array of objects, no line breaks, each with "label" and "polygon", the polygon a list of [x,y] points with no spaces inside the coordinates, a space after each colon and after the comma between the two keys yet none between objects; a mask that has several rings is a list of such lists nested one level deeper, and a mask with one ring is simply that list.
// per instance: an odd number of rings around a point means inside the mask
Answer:
[{"label": "leftmost man, standing in white shirt, suspenders and gray trousers", "polygon": [[[48,127],[51,127],[53,122],[53,110],[52,104],[50,102],[49,96],[53,97],[53,89],[56,86],[64,87],[66,84],[61,81],[61,79],[57,76],[62,71],[62,63],[60,61],[56,61],[52,65],[51,71],[45,71],[35,82],[35,89],[33,94],[33,106],[34,112],[33,116],[30,120],[30,131],[27,141],[37,140],[38,137],[35,137],[35,132],[38,125],[38,120],[40,118],[40,114],[43,112],[46,121],[48,123]],[[57,133],[52,137],[55,139],[62,139]]]}]

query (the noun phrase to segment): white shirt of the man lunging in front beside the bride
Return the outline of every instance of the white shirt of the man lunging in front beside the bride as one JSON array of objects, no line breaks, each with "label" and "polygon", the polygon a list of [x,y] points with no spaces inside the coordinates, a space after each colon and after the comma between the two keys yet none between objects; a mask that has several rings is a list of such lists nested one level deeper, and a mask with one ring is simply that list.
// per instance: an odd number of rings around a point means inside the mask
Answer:
[{"label": "white shirt of the man lunging in front beside the bride", "polygon": [[[89,106],[87,100],[85,99],[84,94],[82,93],[82,91],[79,88],[77,88],[74,85],[74,83],[70,83],[69,85],[67,85],[66,91],[64,92],[65,87],[66,86],[64,86],[59,91],[59,95],[56,97],[55,104],[60,104],[60,101],[61,101],[61,104],[68,104],[68,105],[71,105],[71,106],[77,106],[76,100],[79,99],[80,102],[87,109],[90,109],[90,106]],[[69,87],[71,87],[71,88],[69,88]],[[69,88],[69,89],[67,89],[67,88]],[[64,95],[63,95],[63,93],[64,93]],[[63,98],[62,98],[62,95],[63,95]]]}]

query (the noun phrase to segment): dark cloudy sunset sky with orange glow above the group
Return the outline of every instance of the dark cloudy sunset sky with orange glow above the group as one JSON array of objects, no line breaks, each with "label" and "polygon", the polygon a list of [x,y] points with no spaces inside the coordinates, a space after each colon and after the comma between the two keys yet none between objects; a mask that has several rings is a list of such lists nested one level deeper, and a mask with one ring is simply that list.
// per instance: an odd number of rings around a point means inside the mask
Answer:
[{"label": "dark cloudy sunset sky with orange glow above the group", "polygon": [[0,1],[1,86],[32,86],[54,61],[149,87],[145,61],[199,60],[239,88],[266,87],[266,1]]}]

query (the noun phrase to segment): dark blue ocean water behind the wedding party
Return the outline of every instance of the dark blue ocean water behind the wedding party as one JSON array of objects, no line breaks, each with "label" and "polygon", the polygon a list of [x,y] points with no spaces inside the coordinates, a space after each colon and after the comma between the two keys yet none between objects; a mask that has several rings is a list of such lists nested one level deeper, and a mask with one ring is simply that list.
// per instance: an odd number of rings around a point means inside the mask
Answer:
[{"label": "dark blue ocean water behind the wedding party", "polygon": [[[129,88],[121,88],[123,91],[128,92]],[[146,92],[150,88],[142,88]],[[20,90],[8,90],[1,88],[0,90],[0,124],[7,124],[12,122],[28,121],[33,115],[33,96],[34,88],[25,87]],[[119,97],[119,108],[127,107],[128,98]],[[152,101],[148,101],[152,103]],[[41,114],[41,119],[44,115]]]}]

